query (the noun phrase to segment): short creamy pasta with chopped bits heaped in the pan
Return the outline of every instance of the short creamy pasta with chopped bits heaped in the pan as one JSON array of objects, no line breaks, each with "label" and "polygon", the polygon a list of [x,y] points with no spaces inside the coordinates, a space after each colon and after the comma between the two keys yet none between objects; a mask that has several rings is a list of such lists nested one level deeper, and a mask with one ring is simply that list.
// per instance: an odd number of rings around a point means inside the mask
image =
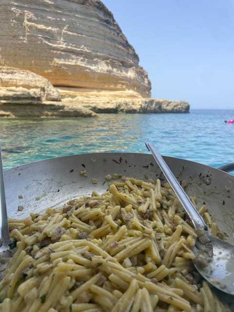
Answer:
[{"label": "short creamy pasta with chopped bits heaped in the pan", "polygon": [[[196,208],[217,234],[205,204]],[[231,312],[195,271],[195,230],[160,179],[114,181],[9,227],[17,250],[2,312]]]}]

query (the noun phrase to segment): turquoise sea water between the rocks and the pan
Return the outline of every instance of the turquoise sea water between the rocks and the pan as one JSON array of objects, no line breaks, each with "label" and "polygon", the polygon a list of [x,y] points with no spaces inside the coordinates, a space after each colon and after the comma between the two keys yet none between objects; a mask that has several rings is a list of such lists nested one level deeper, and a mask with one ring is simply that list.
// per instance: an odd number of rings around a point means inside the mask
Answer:
[{"label": "turquoise sea water between the rocks and the pan", "polygon": [[3,168],[55,156],[159,152],[215,168],[234,162],[234,110],[189,114],[100,114],[97,118],[0,119]]}]

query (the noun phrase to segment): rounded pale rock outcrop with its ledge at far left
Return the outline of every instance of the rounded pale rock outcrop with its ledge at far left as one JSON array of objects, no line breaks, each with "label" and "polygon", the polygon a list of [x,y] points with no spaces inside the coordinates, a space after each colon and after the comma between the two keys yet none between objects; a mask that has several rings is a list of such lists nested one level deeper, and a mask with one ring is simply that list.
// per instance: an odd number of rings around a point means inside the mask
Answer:
[{"label": "rounded pale rock outcrop with its ledge at far left", "polygon": [[0,68],[0,117],[79,116],[97,114],[62,102],[59,90],[44,77],[16,68]]}]

